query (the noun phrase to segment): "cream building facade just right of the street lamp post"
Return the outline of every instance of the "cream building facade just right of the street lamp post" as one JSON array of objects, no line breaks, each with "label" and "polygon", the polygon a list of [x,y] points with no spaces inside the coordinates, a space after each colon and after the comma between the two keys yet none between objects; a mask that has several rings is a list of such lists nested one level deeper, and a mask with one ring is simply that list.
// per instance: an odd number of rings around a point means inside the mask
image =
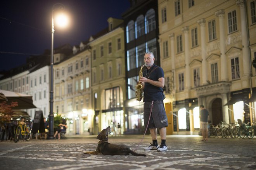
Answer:
[{"label": "cream building facade just right of the street lamp post", "polygon": [[[92,104],[90,47],[81,42],[73,54],[54,65],[54,113],[67,119],[67,134],[90,134]],[[61,56],[55,54],[54,60]]]}]

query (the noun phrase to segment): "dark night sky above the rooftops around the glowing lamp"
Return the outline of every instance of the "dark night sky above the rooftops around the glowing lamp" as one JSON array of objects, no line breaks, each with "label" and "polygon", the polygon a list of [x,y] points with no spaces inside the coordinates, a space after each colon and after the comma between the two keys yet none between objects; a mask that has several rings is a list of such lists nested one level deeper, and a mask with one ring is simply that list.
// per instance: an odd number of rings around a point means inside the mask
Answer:
[{"label": "dark night sky above the rooftops around the glowing lamp", "polygon": [[79,45],[108,26],[109,17],[121,19],[129,0],[4,0],[0,5],[0,71],[26,63],[51,44],[52,6],[65,5],[68,28],[55,27],[54,48]]}]

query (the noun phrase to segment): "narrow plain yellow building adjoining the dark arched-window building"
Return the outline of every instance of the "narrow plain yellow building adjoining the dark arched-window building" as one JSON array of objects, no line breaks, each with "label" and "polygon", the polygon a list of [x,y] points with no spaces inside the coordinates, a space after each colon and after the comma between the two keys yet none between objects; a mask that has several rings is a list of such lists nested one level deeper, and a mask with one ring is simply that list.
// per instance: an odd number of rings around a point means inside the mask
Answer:
[{"label": "narrow plain yellow building adjoining the dark arched-window building", "polygon": [[93,134],[118,123],[124,131],[125,53],[123,20],[109,18],[109,27],[90,38],[92,49]]}]

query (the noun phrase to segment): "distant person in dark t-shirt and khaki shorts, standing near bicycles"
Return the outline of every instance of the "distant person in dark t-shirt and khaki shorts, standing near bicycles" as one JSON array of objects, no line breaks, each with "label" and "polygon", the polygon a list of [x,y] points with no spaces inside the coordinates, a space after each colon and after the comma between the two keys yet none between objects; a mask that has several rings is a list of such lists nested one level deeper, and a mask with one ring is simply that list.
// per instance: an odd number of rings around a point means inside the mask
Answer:
[{"label": "distant person in dark t-shirt and khaki shorts, standing near bicycles", "polygon": [[207,109],[204,108],[204,105],[200,105],[200,128],[202,131],[202,140],[201,141],[208,141],[208,117],[209,112]]}]

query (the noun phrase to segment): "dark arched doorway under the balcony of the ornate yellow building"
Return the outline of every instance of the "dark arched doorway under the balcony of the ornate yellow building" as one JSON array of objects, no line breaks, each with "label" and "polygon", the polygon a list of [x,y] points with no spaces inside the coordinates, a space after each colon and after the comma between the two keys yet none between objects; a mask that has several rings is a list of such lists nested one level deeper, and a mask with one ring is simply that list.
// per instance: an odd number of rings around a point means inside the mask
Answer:
[{"label": "dark arched doorway under the balcony of the ornate yellow building", "polygon": [[220,98],[214,99],[211,105],[211,113],[213,117],[213,125],[217,125],[220,121],[223,121],[222,116],[222,100]]}]

